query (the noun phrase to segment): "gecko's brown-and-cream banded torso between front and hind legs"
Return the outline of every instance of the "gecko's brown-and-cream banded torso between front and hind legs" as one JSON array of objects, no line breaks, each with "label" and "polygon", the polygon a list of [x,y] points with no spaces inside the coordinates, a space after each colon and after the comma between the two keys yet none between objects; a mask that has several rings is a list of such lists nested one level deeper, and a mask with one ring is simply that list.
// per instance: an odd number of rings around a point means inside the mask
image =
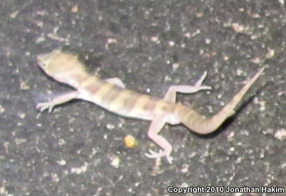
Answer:
[{"label": "gecko's brown-and-cream banded torso between front and hind legs", "polygon": [[91,101],[109,111],[132,118],[152,118],[156,113],[170,112],[174,103],[123,89],[98,78],[87,78],[81,88],[89,93]]}]

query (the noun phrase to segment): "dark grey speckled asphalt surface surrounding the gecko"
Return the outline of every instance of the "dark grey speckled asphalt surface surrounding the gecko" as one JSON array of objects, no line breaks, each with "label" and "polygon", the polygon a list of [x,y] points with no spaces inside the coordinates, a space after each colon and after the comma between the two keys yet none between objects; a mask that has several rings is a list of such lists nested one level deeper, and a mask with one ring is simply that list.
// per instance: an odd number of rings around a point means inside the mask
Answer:
[{"label": "dark grey speckled asphalt surface surrounding the gecko", "polygon": [[[283,0],[1,0],[0,195],[286,188],[285,13]],[[208,70],[205,84],[213,91],[178,97],[206,116],[266,69],[238,113],[214,134],[165,126],[160,134],[174,147],[170,165],[144,156],[158,150],[146,135],[148,122],[84,101],[39,114],[41,95],[69,90],[36,66],[36,55],[58,47],[77,53],[100,77],[118,76],[127,88],[156,97]],[[133,149],[125,147],[127,134],[138,142]]]}]

